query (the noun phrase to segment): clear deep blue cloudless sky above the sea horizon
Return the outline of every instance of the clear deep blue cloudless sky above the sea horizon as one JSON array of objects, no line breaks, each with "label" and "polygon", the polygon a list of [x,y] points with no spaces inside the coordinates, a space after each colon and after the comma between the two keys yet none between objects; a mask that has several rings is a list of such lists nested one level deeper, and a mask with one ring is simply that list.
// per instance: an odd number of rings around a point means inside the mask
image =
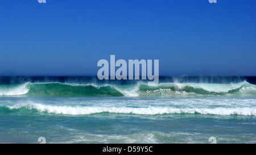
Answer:
[{"label": "clear deep blue cloudless sky above the sea horizon", "polygon": [[256,76],[255,0],[0,2],[0,76],[96,76],[100,59],[162,76]]}]

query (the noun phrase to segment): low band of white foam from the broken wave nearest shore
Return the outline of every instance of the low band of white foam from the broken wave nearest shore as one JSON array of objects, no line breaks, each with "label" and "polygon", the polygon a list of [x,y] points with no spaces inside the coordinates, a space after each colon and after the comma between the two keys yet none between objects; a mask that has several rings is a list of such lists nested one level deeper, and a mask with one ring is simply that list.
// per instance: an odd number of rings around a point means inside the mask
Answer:
[{"label": "low band of white foam from the broken wave nearest shore", "polygon": [[19,103],[13,106],[0,106],[0,110],[25,109],[37,110],[53,114],[64,115],[88,115],[102,112],[136,115],[158,115],[158,114],[210,114],[210,115],[248,115],[256,116],[256,109],[249,107],[236,108],[172,108],[172,107],[80,107],[80,106],[53,106],[39,103]]}]

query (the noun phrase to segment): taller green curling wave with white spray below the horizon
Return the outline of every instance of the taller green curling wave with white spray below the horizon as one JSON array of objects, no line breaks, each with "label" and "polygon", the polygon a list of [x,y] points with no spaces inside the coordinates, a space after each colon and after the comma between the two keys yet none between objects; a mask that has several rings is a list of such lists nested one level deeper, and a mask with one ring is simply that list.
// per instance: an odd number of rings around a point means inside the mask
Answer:
[{"label": "taller green curling wave with white spray below the horizon", "polygon": [[159,83],[151,86],[138,82],[130,85],[78,83],[23,83],[0,85],[0,96],[36,97],[119,97],[119,96],[187,96],[187,95],[256,95],[256,85],[240,83]]}]

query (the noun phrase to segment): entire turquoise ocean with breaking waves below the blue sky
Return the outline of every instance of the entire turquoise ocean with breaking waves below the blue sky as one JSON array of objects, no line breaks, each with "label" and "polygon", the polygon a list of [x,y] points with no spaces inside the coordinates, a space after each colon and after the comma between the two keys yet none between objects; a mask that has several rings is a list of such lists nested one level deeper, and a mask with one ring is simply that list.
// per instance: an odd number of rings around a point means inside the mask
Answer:
[{"label": "entire turquoise ocean with breaking waves below the blue sky", "polygon": [[256,143],[255,84],[0,77],[0,143]]}]

